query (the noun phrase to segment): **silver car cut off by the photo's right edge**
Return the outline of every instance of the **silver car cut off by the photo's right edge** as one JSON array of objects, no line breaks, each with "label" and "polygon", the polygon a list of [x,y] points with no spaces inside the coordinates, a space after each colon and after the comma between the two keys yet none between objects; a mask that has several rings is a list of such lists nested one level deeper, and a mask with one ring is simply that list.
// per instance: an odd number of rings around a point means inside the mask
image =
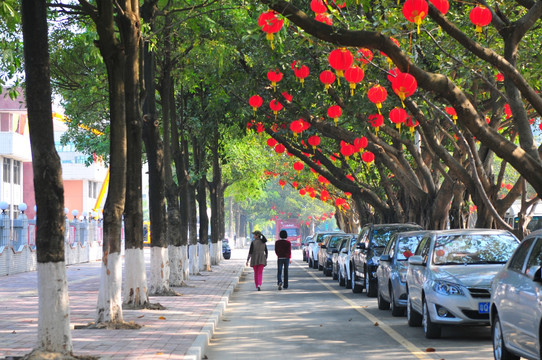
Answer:
[{"label": "silver car cut off by the photo's right edge", "polygon": [[542,230],[531,233],[491,284],[495,359],[540,359]]}]

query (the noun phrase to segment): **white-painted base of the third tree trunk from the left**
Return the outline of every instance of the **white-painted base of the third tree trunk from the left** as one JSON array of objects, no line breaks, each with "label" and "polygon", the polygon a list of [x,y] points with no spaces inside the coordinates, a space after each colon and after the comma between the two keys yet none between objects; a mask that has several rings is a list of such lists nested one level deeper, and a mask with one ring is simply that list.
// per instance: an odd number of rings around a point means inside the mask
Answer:
[{"label": "white-painted base of the third tree trunk from the left", "polygon": [[135,308],[149,303],[143,249],[126,249],[124,254],[123,303]]}]

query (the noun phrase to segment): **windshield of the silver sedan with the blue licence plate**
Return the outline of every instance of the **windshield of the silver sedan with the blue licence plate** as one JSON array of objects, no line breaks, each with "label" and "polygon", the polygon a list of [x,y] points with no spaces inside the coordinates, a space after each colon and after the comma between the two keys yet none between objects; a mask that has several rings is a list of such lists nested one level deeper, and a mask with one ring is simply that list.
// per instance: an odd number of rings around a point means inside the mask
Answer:
[{"label": "windshield of the silver sedan with the blue licence plate", "polygon": [[433,251],[433,264],[504,264],[518,244],[516,238],[507,234],[439,236]]}]

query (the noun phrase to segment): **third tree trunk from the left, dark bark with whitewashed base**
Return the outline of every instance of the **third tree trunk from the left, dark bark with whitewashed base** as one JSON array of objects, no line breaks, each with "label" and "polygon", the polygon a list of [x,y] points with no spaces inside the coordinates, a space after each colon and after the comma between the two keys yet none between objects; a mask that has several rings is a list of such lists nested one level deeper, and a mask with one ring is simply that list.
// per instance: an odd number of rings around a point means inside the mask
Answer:
[{"label": "third tree trunk from the left, dark bark with whitewashed base", "polygon": [[149,297],[143,252],[142,121],[139,103],[141,24],[139,5],[133,2],[130,6],[131,8],[125,9],[124,16],[118,17],[126,53],[127,167],[124,208],[126,252],[123,303],[130,308],[144,308],[149,303]]}]

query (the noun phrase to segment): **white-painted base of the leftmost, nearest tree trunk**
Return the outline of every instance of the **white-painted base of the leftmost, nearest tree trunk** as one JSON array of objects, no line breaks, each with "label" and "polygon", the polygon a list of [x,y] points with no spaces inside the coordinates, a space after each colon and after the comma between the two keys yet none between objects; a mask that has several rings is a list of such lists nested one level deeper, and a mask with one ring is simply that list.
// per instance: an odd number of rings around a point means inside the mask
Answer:
[{"label": "white-painted base of the leftmost, nearest tree trunk", "polygon": [[38,349],[71,354],[70,301],[66,263],[38,263]]}]

